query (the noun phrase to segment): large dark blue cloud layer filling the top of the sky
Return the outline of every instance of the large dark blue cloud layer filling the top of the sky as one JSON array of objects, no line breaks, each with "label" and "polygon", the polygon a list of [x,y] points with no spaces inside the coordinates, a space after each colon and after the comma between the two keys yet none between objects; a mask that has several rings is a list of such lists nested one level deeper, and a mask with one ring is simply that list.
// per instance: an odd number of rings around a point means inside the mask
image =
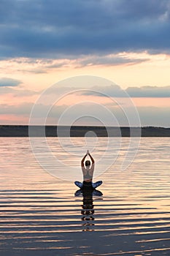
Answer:
[{"label": "large dark blue cloud layer filling the top of the sky", "polygon": [[169,0],[1,0],[1,58],[169,52]]}]

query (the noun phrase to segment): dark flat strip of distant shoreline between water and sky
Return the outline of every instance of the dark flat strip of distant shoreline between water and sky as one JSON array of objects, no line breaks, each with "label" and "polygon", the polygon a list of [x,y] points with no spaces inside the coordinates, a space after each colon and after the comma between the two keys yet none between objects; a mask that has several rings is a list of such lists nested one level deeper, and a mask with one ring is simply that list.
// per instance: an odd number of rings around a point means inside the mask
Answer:
[{"label": "dark flat strip of distant shoreline between water and sky", "polygon": [[[0,125],[0,137],[84,137],[87,132],[94,132],[98,137],[170,137],[170,128],[163,127],[96,127],[63,126],[57,133],[56,126],[32,126],[29,134],[28,125]],[[132,133],[130,134],[130,130]],[[93,137],[93,133],[88,133]],[[109,135],[109,136],[108,136]]]}]

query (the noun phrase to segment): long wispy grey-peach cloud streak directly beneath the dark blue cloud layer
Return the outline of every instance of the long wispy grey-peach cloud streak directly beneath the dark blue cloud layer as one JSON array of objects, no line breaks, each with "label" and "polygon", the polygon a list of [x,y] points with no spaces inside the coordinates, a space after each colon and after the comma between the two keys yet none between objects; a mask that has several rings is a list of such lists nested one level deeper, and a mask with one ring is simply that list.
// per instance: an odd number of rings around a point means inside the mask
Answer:
[{"label": "long wispy grey-peach cloud streak directly beneath the dark blue cloud layer", "polygon": [[149,61],[150,56],[147,54],[136,53],[115,53],[105,56],[101,55],[81,55],[78,58],[68,56],[67,59],[36,59],[36,58],[16,58],[10,60],[1,60],[1,70],[5,72],[12,65],[18,72],[26,72],[33,74],[47,73],[50,69],[63,69],[66,67],[80,68],[85,66],[114,66],[120,64],[139,64]]}]

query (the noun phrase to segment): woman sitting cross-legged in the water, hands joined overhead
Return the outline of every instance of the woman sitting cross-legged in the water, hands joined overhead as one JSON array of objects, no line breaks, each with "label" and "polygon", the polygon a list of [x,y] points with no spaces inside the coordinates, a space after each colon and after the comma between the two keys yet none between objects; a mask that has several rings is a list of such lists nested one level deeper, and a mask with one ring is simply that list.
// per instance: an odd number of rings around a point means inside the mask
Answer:
[{"label": "woman sitting cross-legged in the water, hands joined overhead", "polygon": [[[89,156],[90,160],[86,160],[85,158]],[[93,183],[93,171],[94,171],[94,159],[90,155],[89,151],[85,154],[85,157],[82,158],[81,161],[82,166],[82,174],[83,174],[83,183],[79,181],[75,181],[75,184],[80,188],[92,188],[95,189],[96,187],[100,186],[102,184],[102,181],[97,181]]]}]

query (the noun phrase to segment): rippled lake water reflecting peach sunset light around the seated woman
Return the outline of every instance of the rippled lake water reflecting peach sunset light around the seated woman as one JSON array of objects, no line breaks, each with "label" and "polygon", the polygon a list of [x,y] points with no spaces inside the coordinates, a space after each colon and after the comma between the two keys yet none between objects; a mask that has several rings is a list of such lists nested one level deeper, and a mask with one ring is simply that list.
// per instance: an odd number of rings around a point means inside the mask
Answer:
[{"label": "rippled lake water reflecting peach sunset light around the seated woman", "polygon": [[[47,140],[55,154],[58,139]],[[0,138],[0,255],[170,255],[170,138],[142,138],[122,171],[127,147],[123,138],[117,161],[96,178],[103,195],[83,197],[39,166],[28,138]]]}]

